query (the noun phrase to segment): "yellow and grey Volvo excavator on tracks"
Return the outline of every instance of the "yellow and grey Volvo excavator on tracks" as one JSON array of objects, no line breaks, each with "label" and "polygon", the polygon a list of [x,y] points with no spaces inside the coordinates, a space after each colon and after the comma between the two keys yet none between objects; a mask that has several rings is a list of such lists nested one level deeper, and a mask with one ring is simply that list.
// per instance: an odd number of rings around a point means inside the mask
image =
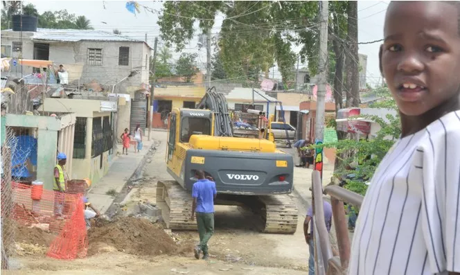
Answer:
[{"label": "yellow and grey Volvo excavator on tracks", "polygon": [[[196,230],[191,190],[196,170],[215,181],[215,205],[250,208],[265,233],[294,233],[298,209],[292,193],[292,156],[265,139],[234,137],[227,100],[212,87],[196,109],[170,112],[166,163],[174,181],[157,183],[157,206],[168,229]],[[269,123],[268,123],[269,124]]]}]

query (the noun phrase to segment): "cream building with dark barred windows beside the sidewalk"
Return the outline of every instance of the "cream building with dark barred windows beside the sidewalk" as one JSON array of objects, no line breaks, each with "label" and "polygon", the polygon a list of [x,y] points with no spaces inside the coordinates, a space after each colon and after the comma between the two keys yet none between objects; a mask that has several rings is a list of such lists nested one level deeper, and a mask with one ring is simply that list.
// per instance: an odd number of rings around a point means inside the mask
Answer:
[{"label": "cream building with dark barred windows beside the sidewalk", "polygon": [[73,139],[73,179],[91,179],[97,184],[107,174],[114,158],[113,117],[116,101],[46,98],[45,114],[67,112],[75,119]]}]

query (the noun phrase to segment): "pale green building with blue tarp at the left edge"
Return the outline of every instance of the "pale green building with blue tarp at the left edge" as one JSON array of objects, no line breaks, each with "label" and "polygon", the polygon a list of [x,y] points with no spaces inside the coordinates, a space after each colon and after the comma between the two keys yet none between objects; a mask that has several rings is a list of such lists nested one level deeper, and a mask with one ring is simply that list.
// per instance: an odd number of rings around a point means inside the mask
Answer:
[{"label": "pale green building with blue tarp at the left edge", "polygon": [[[57,152],[67,154],[67,173],[73,174],[73,138],[76,118],[71,114],[57,114],[57,116],[27,116],[23,114],[7,114],[2,117],[2,145],[6,142],[13,152],[12,163],[16,164],[17,159],[22,159],[25,166],[22,172],[27,170],[30,177],[23,180],[30,182],[34,180],[42,181],[44,188],[53,188],[53,169],[57,163]],[[11,137],[6,137],[4,127],[15,133],[15,138],[19,136],[31,136],[32,139],[24,139],[25,143],[19,145],[18,141],[8,141]],[[28,144],[30,143],[30,144]],[[34,144],[32,144],[34,143]],[[26,149],[29,148],[29,149]],[[22,174],[21,172],[21,174]]]}]

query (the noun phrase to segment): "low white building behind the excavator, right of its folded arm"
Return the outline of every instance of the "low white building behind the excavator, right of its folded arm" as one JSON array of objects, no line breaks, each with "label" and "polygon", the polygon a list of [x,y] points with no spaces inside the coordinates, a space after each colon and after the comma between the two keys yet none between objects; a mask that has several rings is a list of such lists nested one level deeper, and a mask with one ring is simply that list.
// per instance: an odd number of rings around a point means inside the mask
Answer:
[{"label": "low white building behind the excavator, right of its folded arm", "polygon": [[[254,102],[254,109],[265,112],[267,116],[275,114],[276,98],[272,98],[260,89],[235,88],[225,96],[229,109],[240,111]],[[254,100],[253,100],[254,99]]]}]

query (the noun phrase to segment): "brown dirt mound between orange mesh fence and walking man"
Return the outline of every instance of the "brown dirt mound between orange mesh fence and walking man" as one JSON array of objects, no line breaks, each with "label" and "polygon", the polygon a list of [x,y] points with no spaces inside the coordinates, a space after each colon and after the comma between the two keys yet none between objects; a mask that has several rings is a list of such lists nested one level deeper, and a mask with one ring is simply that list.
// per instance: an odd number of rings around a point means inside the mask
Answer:
[{"label": "brown dirt mound between orange mesh fence and walking man", "polygon": [[159,224],[131,217],[120,218],[112,223],[97,224],[88,231],[88,240],[88,256],[102,252],[103,245],[128,254],[145,256],[183,252],[182,247],[179,247]]}]

